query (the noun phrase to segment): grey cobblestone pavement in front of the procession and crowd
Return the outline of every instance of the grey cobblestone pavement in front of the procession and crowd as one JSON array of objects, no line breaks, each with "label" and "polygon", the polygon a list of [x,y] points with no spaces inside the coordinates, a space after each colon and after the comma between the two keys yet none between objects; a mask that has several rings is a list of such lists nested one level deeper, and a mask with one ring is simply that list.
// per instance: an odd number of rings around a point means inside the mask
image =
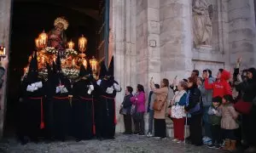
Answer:
[{"label": "grey cobblestone pavement in front of the procession and crowd", "polygon": [[117,135],[113,140],[88,140],[21,145],[15,139],[3,139],[1,153],[221,153],[207,147],[175,144],[171,139],[155,139],[137,135]]}]

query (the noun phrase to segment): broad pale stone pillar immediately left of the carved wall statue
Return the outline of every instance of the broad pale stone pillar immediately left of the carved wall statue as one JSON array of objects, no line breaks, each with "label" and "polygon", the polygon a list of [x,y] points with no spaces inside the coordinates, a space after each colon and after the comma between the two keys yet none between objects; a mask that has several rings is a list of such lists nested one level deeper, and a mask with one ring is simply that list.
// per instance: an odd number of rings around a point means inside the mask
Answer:
[{"label": "broad pale stone pillar immediately left of the carved wall statue", "polygon": [[192,70],[191,2],[160,0],[160,71],[171,82]]}]

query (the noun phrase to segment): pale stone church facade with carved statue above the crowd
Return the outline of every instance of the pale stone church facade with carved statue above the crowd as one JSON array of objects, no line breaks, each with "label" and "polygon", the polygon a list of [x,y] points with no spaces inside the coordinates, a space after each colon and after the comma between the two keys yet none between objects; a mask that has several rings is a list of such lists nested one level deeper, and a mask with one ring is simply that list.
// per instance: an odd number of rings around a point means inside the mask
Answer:
[{"label": "pale stone church facade with carved statue above the crowd", "polygon": [[[242,67],[256,65],[253,0],[110,0],[108,59],[114,55],[115,78],[125,89],[188,77],[190,71],[231,70],[242,56]],[[204,7],[200,10],[198,8]],[[0,2],[0,37],[9,50],[11,0]],[[196,26],[196,28],[195,28]],[[5,88],[5,87],[4,87]],[[117,95],[116,132],[123,131]],[[3,131],[5,90],[0,129]],[[147,126],[146,126],[147,127]],[[3,133],[3,132],[2,132]]]}]

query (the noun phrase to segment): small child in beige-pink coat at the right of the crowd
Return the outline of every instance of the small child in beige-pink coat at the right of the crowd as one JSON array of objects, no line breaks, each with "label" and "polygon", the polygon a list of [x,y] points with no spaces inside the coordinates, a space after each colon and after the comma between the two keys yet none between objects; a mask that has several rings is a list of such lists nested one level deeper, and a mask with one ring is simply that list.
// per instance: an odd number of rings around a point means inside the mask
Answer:
[{"label": "small child in beige-pink coat at the right of the crowd", "polygon": [[224,132],[224,150],[236,150],[236,135],[235,131],[239,127],[236,122],[238,113],[232,104],[233,98],[231,95],[224,95],[221,108],[221,128]]}]

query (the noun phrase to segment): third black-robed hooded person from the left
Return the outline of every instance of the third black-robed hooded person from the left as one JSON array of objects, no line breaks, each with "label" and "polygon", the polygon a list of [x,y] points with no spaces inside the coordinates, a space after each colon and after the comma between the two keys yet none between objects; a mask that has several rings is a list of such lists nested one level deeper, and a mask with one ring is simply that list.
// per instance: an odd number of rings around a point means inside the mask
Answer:
[{"label": "third black-robed hooded person from the left", "polygon": [[73,83],[73,130],[77,141],[92,139],[96,133],[93,94],[90,64],[87,70],[81,65],[79,80]]}]

